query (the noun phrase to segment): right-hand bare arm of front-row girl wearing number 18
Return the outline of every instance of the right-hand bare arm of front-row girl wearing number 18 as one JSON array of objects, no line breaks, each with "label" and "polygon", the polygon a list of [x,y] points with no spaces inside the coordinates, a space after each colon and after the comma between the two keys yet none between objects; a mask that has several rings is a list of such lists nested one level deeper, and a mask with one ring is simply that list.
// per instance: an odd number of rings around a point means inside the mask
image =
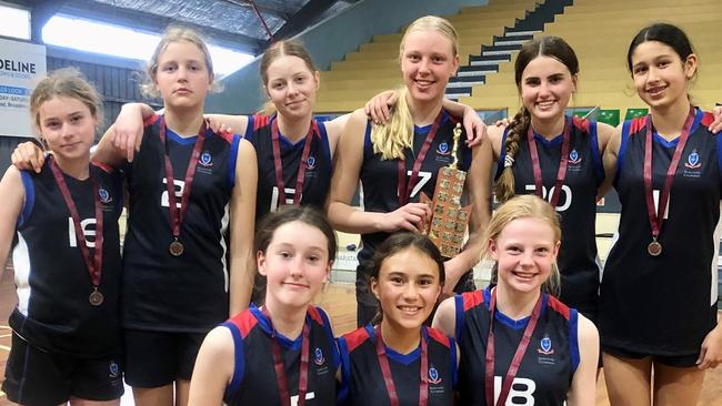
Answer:
[{"label": "right-hand bare arm of front-row girl wearing number 18", "polygon": [[594,406],[596,402],[596,363],[599,359],[599,333],[589,318],[579,315],[579,366],[572,378],[566,405]]}]

